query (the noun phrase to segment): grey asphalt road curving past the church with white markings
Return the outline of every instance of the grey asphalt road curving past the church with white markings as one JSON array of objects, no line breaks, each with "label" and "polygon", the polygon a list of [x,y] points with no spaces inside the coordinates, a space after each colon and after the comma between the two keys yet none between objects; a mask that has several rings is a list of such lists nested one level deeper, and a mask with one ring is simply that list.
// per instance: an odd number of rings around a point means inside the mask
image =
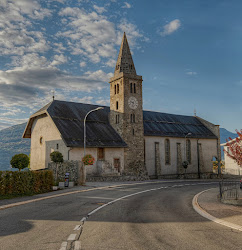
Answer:
[{"label": "grey asphalt road curving past the church with white markings", "polygon": [[[242,249],[241,232],[201,217],[192,207],[195,194],[215,186],[196,181],[129,185],[0,210],[0,249],[79,249],[78,243],[85,250]],[[82,230],[74,230],[91,211]]]}]

